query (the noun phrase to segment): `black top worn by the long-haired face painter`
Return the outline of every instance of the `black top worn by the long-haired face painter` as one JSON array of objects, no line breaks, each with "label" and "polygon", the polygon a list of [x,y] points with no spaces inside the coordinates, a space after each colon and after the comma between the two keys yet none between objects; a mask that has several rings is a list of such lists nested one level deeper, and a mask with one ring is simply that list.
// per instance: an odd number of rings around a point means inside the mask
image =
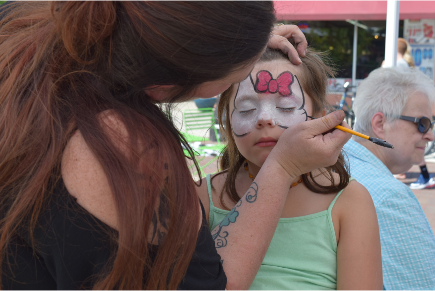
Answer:
[{"label": "black top worn by the long-haired face painter", "polygon": [[[225,290],[227,278],[202,203],[201,209],[203,224],[178,290]],[[109,235],[117,232],[84,210],[62,180],[40,216],[33,235],[36,249],[30,247],[28,231],[19,233],[9,246],[9,264],[2,262],[5,290],[91,289],[116,247]]]}]

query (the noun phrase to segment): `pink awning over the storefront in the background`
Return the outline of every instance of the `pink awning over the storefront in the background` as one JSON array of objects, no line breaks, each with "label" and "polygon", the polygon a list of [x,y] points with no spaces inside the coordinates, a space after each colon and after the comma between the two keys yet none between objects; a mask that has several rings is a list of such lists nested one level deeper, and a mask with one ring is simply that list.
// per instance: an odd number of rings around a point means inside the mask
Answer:
[{"label": "pink awning over the storefront in the background", "polygon": [[[387,1],[274,1],[278,20],[386,20]],[[400,1],[400,19],[435,19],[435,1]]]}]

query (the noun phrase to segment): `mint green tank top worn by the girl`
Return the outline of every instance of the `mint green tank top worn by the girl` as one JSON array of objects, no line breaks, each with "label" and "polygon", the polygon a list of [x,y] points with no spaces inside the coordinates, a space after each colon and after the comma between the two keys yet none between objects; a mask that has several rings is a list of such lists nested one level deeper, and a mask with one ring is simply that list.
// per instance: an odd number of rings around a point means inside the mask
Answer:
[{"label": "mint green tank top worn by the girl", "polygon": [[[207,188],[210,197],[208,226],[213,230],[229,211],[213,205],[210,174],[207,175]],[[331,211],[342,192],[338,192],[328,210],[279,219],[249,290],[337,289],[337,239]]]}]

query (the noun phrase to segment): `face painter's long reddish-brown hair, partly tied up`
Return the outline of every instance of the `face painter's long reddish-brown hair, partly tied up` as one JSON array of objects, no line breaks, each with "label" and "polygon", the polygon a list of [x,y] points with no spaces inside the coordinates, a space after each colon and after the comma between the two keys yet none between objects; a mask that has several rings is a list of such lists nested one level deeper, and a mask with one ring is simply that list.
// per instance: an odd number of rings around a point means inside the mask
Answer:
[{"label": "face painter's long reddish-brown hair, partly tied up", "polygon": [[[2,261],[18,229],[32,234],[37,227],[61,177],[62,151],[78,129],[108,177],[119,217],[116,248],[93,289],[176,289],[196,245],[198,197],[182,144],[189,147],[170,106],[165,112],[143,89],[176,85],[175,101],[226,77],[262,52],[274,21],[272,1],[2,5]],[[125,125],[127,156],[100,122],[105,111]],[[155,224],[165,233],[151,261],[148,234]],[[37,249],[38,241],[32,244]]]}]

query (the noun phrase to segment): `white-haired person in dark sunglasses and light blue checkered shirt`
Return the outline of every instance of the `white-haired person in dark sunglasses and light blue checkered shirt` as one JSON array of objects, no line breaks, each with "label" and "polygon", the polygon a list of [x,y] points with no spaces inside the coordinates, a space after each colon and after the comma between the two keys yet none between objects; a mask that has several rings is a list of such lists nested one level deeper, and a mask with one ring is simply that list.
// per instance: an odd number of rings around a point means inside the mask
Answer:
[{"label": "white-haired person in dark sunglasses and light blue checkered shirt", "polygon": [[434,82],[415,69],[379,68],[359,86],[355,130],[394,145],[356,137],[345,150],[352,176],[373,197],[379,221],[385,290],[434,290],[435,237],[413,192],[393,174],[421,163],[434,140]]}]

